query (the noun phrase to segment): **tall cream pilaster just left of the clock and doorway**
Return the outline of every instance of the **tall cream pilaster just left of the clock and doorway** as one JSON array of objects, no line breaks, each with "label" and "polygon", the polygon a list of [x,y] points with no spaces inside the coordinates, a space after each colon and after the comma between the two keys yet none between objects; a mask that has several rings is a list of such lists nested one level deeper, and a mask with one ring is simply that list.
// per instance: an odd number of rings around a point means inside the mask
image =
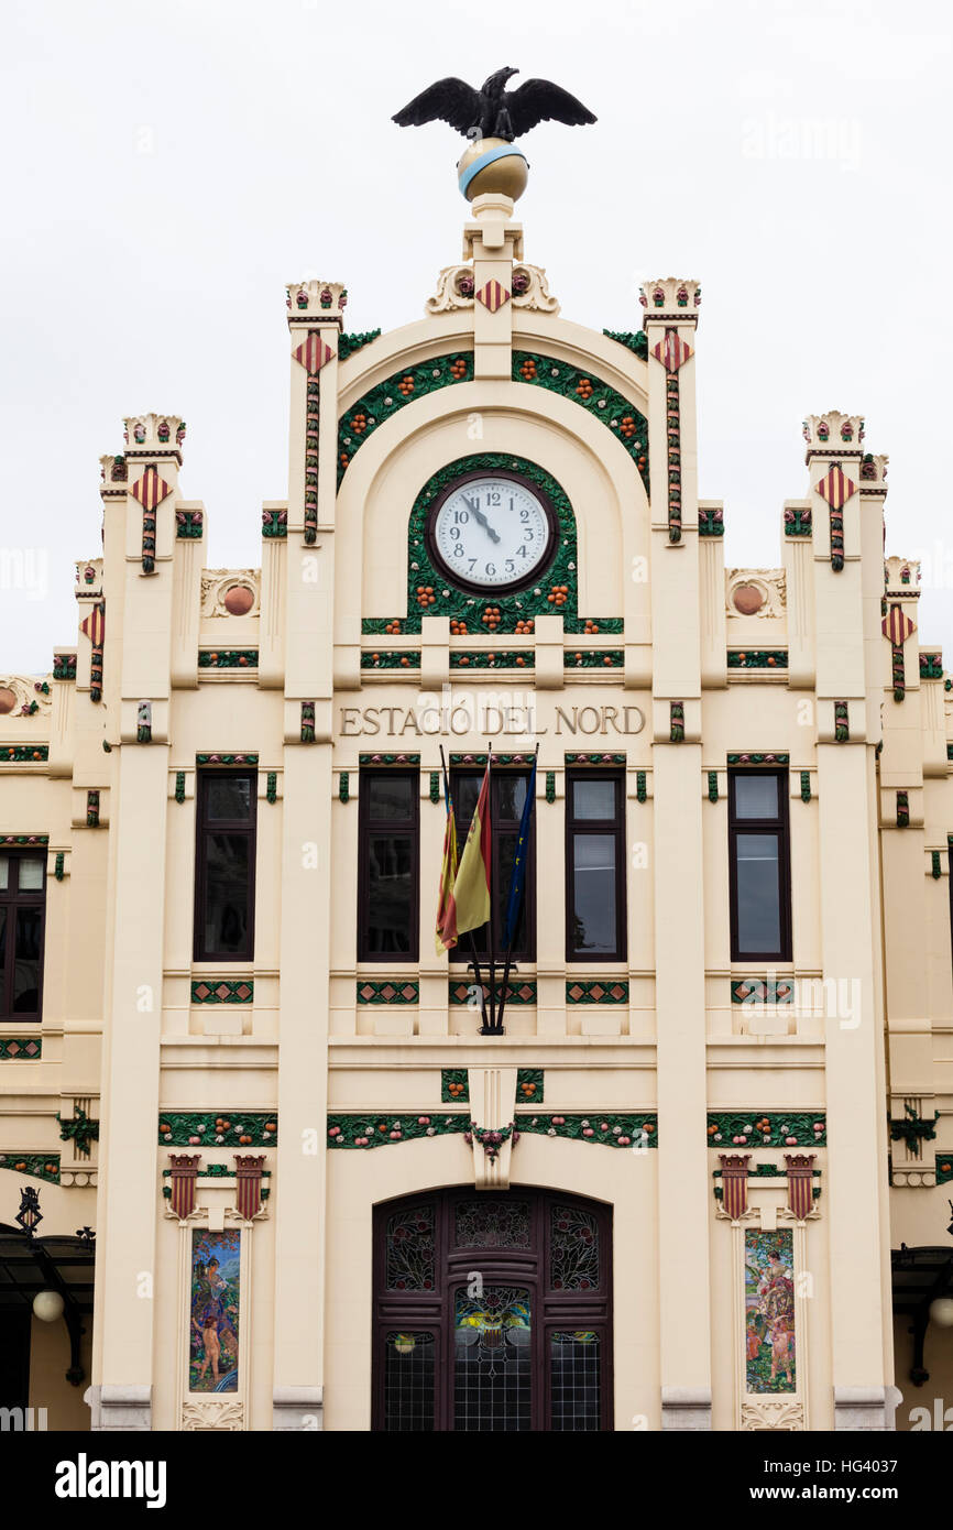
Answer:
[{"label": "tall cream pilaster just left of the clock and doorway", "polygon": [[[320,1427],[324,1375],[332,617],[340,283],[289,288],[274,1424]],[[314,742],[301,705],[314,705]],[[307,1002],[301,996],[307,994]],[[307,1215],[301,1216],[301,1207]],[[307,1291],[307,1300],[301,1293]]]}]

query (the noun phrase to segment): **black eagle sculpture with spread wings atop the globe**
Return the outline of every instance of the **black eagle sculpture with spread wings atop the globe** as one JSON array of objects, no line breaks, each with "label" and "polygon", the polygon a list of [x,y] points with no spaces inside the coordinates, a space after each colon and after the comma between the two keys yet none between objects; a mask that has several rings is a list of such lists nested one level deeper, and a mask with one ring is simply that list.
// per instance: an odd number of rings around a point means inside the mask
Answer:
[{"label": "black eagle sculpture with spread wings atop the globe", "polygon": [[512,75],[519,75],[519,69],[497,69],[479,90],[465,80],[448,75],[421,90],[392,121],[398,127],[442,121],[467,138],[503,138],[509,144],[537,122],[552,119],[571,127],[595,122],[581,101],[551,80],[525,80],[517,90],[506,90],[506,81]]}]

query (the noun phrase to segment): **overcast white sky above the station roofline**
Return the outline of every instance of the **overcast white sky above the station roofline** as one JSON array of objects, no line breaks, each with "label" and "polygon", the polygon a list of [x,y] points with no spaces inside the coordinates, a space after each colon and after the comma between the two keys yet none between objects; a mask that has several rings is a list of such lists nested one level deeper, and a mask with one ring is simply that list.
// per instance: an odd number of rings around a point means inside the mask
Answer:
[{"label": "overcast white sky above the station roofline", "polygon": [[[526,139],[526,259],[568,318],[638,329],[698,277],[701,493],[780,562],[805,413],[890,454],[887,551],[925,552],[953,664],[950,63],[941,0],[6,0],[0,63],[0,673],[73,643],[124,415],[185,416],[210,563],[260,563],[288,476],[285,282],[349,327],[422,314],[459,259],[460,141],[390,121],[445,73],[545,75],[598,116]],[[519,80],[516,81],[519,84]],[[23,557],[23,578],[17,557]],[[15,588],[20,584],[20,588]]]}]

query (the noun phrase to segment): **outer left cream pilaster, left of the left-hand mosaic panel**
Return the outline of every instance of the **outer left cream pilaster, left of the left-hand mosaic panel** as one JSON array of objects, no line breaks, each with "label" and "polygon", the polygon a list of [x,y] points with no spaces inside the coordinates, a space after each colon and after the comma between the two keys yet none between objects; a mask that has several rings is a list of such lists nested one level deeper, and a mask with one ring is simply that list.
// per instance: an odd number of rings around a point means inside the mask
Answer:
[{"label": "outer left cream pilaster, left of the left-hand mosaic panel", "polygon": [[[159,1042],[168,803],[173,554],[181,444],[171,415],[125,421],[104,473],[102,696],[115,741],[96,1281],[101,1429],[148,1429],[153,1385]],[[107,459],[109,461],[109,459]],[[151,737],[139,742],[148,704]],[[119,745],[118,748],[115,745]]]}]

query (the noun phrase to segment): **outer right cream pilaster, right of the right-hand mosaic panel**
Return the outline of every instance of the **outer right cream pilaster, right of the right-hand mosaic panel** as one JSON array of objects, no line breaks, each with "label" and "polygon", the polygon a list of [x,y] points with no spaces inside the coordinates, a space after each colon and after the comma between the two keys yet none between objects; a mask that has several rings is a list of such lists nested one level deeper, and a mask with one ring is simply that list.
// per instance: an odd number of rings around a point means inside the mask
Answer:
[{"label": "outer right cream pilaster, right of the right-hand mosaic panel", "polygon": [[[870,1334],[889,1330],[881,1281],[886,1218],[883,1128],[883,1001],[877,950],[880,869],[877,770],[869,737],[866,667],[872,641],[870,591],[883,578],[883,543],[861,517],[863,419],[812,415],[808,441],[817,614],[817,797],[820,814],[821,970],[828,994],[826,1097],[828,1221],[834,1423],[887,1427],[887,1362]],[[877,528],[875,528],[877,529]],[[873,569],[867,563],[873,558]],[[831,1013],[834,1011],[834,1013]],[[857,1423],[866,1398],[867,1423]],[[870,1398],[880,1397],[872,1421]]]}]

